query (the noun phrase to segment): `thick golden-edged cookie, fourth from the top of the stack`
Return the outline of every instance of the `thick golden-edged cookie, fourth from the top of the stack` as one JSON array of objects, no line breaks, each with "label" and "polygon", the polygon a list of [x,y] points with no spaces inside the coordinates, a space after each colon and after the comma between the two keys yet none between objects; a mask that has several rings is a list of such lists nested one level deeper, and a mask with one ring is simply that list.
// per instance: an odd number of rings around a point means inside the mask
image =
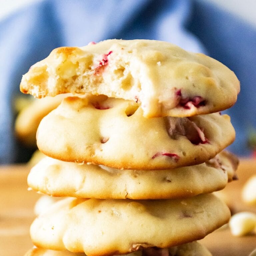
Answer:
[{"label": "thick golden-edged cookie, fourth from the top of the stack", "polygon": [[173,200],[63,199],[35,219],[34,245],[88,256],[168,248],[202,239],[230,218],[212,194]]}]

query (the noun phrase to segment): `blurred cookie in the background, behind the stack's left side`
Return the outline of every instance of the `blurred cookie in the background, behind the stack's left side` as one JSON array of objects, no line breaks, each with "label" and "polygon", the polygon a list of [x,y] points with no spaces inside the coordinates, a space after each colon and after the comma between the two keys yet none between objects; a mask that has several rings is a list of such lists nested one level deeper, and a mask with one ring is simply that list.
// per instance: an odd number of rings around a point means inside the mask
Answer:
[{"label": "blurred cookie in the background, behind the stack's left side", "polygon": [[19,141],[28,147],[36,147],[36,130],[44,116],[57,108],[67,95],[35,99],[21,110],[15,121],[15,134]]}]

